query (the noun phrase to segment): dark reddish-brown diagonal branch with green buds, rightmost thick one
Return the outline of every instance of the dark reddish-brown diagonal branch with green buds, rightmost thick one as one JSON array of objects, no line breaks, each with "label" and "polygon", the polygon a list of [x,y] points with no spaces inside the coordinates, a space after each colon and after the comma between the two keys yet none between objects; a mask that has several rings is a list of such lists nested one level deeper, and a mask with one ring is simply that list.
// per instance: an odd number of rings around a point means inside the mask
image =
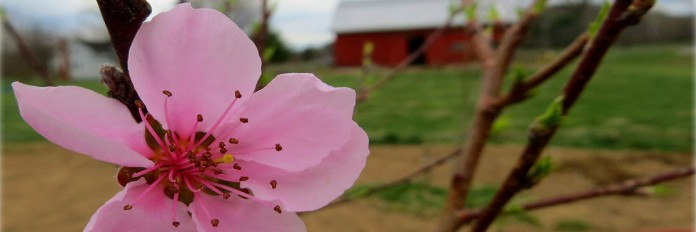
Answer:
[{"label": "dark reddish-brown diagonal branch with green buds, rightmost thick one", "polygon": [[[652,7],[651,3],[651,1],[641,0],[617,0],[614,3],[607,18],[602,23],[602,27],[566,84],[560,103],[562,104],[562,115],[568,114],[571,106],[579,98],[619,33],[624,28],[637,23],[643,14]],[[527,186],[529,181],[527,173],[539,158],[539,155],[558,129],[558,126],[559,124],[554,124],[530,130],[528,144],[520,159],[509,173],[498,193],[496,193],[493,201],[478,217],[472,227],[472,231],[485,231],[505,204]]]}]

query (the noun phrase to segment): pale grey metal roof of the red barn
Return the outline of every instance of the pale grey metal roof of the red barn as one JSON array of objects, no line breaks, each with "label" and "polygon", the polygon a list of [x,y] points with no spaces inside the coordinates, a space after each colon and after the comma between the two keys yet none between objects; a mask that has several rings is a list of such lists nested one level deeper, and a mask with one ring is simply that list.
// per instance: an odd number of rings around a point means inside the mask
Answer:
[{"label": "pale grey metal roof of the red barn", "polygon": [[[334,14],[333,29],[337,33],[397,31],[440,27],[448,17],[450,0],[352,0],[341,1]],[[459,3],[460,1],[454,1]],[[489,9],[495,1],[479,3],[481,22],[489,21]],[[513,7],[496,8],[501,20],[511,22],[517,15]],[[454,25],[464,25],[459,14]]]}]

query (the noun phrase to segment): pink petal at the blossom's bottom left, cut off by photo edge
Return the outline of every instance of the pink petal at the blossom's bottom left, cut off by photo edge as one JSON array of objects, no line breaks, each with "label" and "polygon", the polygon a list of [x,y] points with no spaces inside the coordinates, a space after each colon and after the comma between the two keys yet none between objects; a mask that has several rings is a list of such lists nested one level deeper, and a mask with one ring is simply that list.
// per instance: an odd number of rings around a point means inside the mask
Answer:
[{"label": "pink petal at the blossom's bottom left, cut off by photo edge", "polygon": [[164,195],[162,186],[145,194],[132,209],[123,210],[148,186],[142,179],[128,183],[92,215],[84,231],[196,231],[186,205],[181,202],[177,202],[176,210],[176,220],[181,224],[178,227],[172,225],[173,200]]}]

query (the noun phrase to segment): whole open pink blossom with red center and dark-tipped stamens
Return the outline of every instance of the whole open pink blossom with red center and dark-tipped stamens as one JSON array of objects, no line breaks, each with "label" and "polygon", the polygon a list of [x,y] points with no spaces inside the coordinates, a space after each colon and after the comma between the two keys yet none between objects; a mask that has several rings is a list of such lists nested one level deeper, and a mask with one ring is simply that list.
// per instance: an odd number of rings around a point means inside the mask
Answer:
[{"label": "whole open pink blossom with red center and dark-tipped stamens", "polygon": [[141,123],[90,90],[12,84],[46,139],[122,166],[123,190],[85,231],[305,231],[295,212],[328,204],[365,165],[355,92],[295,73],[254,93],[256,48],[219,12],[182,4],[154,17],[128,65]]}]

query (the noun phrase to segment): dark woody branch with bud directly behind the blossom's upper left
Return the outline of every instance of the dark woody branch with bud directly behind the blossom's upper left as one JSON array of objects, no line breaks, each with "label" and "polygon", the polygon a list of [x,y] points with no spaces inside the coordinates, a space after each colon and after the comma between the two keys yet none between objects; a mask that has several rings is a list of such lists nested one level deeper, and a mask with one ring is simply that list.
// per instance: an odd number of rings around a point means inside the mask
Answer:
[{"label": "dark woody branch with bud directly behind the blossom's upper left", "polygon": [[99,70],[102,83],[109,88],[108,96],[126,105],[135,121],[140,122],[142,119],[135,105],[135,100],[140,97],[128,74],[128,52],[140,25],[152,9],[146,0],[97,0],[97,4],[123,70],[102,65]]}]

